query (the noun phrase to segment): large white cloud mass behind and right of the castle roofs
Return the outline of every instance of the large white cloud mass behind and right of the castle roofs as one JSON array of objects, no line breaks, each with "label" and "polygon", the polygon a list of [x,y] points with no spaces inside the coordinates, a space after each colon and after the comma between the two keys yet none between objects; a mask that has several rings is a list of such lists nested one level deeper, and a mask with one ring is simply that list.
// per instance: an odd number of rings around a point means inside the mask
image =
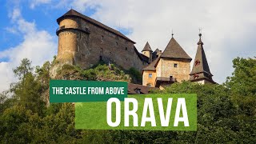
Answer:
[{"label": "large white cloud mass behind and right of the castle roofs", "polygon": [[[233,70],[232,60],[238,56],[256,54],[256,10],[253,0],[78,0],[75,10],[84,12],[97,7],[92,16],[108,26],[124,28],[142,50],[146,41],[154,49],[164,50],[174,30],[174,38],[194,58],[197,50],[198,27],[202,27],[202,41],[214,80],[225,82]],[[194,60],[193,60],[194,62]],[[192,62],[191,62],[192,63]]]}]

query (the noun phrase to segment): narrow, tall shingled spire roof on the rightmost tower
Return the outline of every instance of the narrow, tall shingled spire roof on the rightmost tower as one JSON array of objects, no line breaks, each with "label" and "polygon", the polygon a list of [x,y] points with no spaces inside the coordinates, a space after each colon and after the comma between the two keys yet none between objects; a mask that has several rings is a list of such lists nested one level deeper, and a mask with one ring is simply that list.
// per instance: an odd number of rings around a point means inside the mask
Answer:
[{"label": "narrow, tall shingled spire roof on the rightmost tower", "polygon": [[198,42],[198,50],[194,58],[194,64],[193,64],[193,68],[190,75],[205,72],[207,74],[210,74],[210,76],[212,76],[213,74],[210,73],[210,68],[208,66],[208,62],[206,59],[205,50],[203,50],[203,46],[202,46],[203,42],[201,40],[201,35],[202,34],[199,34],[200,39]]}]

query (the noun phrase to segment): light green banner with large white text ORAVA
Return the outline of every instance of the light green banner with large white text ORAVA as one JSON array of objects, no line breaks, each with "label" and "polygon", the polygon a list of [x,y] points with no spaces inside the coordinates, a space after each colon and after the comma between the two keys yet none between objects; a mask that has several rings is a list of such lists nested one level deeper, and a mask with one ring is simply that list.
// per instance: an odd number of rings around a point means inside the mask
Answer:
[{"label": "light green banner with large white text ORAVA", "polygon": [[75,103],[75,128],[86,130],[197,130],[196,94],[129,95],[124,102]]}]

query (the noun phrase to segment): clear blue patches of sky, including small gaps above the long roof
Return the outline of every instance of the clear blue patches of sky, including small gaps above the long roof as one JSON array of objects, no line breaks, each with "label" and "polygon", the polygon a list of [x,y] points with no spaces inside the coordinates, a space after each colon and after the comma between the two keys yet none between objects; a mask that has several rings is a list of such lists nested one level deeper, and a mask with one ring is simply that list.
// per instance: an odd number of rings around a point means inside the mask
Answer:
[{"label": "clear blue patches of sky, including small gaps above the long roof", "polygon": [[[14,9],[20,10],[22,18],[24,18],[27,22],[35,22],[37,30],[46,30],[50,35],[55,36],[55,30],[58,28],[56,19],[62,14],[65,14],[67,10],[70,10],[73,5],[63,4],[62,6],[58,6],[60,2],[52,2],[48,0],[35,0],[34,2],[38,2],[38,4],[32,6],[31,3],[33,3],[33,0],[14,0],[0,2],[0,18],[2,19],[2,22],[0,23],[2,29],[2,33],[0,35],[0,51],[17,46],[24,40],[22,34],[10,31],[10,29],[17,26],[16,23],[13,22],[10,18],[10,15]],[[66,1],[66,3],[69,2],[71,1]],[[92,16],[96,12],[98,7],[99,6],[87,7],[86,10],[82,11],[82,13],[86,14],[87,16]],[[123,34],[131,33],[131,30],[125,27],[120,28],[118,26],[114,26],[114,28],[122,31]],[[58,37],[55,36],[54,40],[55,42],[57,42]],[[0,58],[0,62],[8,61],[8,58]]]}]

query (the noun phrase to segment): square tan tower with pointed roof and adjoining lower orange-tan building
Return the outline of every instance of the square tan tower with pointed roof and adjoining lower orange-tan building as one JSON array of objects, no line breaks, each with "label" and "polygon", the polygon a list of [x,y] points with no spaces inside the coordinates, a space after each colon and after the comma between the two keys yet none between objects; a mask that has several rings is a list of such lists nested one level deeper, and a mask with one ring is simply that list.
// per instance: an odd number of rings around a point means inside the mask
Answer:
[{"label": "square tan tower with pointed roof and adjoining lower orange-tan building", "polygon": [[143,86],[162,89],[171,83],[189,80],[192,59],[173,37],[162,53],[160,50],[155,52],[159,54],[158,58],[142,69]]}]

